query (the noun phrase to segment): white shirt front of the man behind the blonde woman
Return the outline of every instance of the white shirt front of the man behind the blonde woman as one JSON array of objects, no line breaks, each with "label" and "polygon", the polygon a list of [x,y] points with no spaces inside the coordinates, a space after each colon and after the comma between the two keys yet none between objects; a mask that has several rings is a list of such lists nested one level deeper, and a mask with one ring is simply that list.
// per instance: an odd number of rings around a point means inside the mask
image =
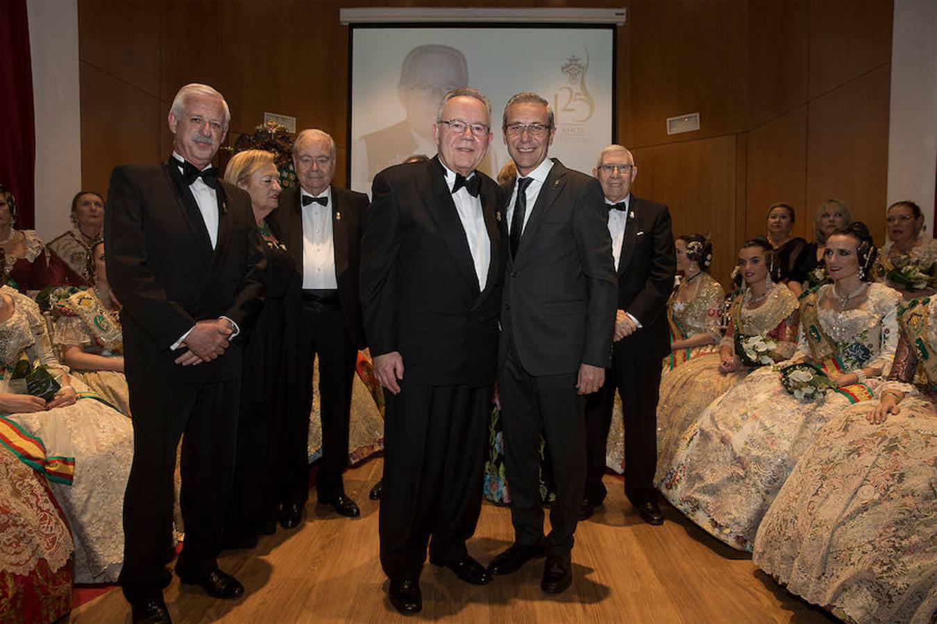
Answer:
[{"label": "white shirt front of the man behind the blonde woman", "polygon": [[[312,202],[302,204],[302,197],[328,197],[325,206]],[[300,210],[303,213],[303,288],[335,290],[335,234],[332,227],[332,186],[314,196],[300,189]]]}]

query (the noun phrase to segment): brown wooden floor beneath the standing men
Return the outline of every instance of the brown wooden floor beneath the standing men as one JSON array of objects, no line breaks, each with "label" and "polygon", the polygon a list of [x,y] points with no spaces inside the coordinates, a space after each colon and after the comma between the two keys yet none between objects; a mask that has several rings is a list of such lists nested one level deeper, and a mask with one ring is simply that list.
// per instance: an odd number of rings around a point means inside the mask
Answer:
[{"label": "brown wooden floor beneath the standing men", "polygon": [[[488,586],[459,581],[428,563],[421,578],[424,608],[398,615],[387,599],[378,560],[378,503],[367,492],[381,460],[346,472],[345,485],[362,517],[335,515],[310,500],[298,529],[278,530],[254,550],[220,559],[246,588],[243,599],[217,601],[177,578],[165,592],[173,621],[187,622],[832,622],[824,611],[788,594],[748,556],[664,507],[651,527],[624,501],[620,480],[606,476],[604,507],[576,530],[573,587],[558,596],[540,590],[543,563],[498,576]],[[312,496],[315,497],[315,490]],[[485,502],[468,550],[483,563],[513,541],[507,508]],[[72,622],[129,622],[119,590],[83,604]]]}]

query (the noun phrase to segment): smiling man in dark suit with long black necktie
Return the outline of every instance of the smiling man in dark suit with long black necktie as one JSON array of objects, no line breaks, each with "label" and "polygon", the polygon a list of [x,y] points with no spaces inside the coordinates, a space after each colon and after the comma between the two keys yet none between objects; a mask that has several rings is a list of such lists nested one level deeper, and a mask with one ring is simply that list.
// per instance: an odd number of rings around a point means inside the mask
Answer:
[{"label": "smiling man in dark suit with long black necktie", "polygon": [[[610,361],[615,267],[599,183],[546,157],[557,131],[547,101],[514,95],[502,129],[518,176],[505,189],[511,254],[498,356],[514,544],[489,569],[512,573],[545,554],[541,588],[558,593],[573,582],[573,532],[586,478],[583,410]],[[541,433],[557,483],[545,540]]]}]

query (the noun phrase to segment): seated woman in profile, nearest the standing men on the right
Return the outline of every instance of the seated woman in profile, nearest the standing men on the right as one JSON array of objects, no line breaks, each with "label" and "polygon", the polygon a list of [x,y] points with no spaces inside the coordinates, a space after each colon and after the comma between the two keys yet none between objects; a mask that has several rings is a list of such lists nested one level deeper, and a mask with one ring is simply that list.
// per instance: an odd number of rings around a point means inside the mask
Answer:
[{"label": "seated woman in profile, nearest the standing men on the right", "polygon": [[722,337],[720,322],[725,301],[725,291],[708,272],[712,243],[699,234],[684,234],[677,237],[674,246],[677,272],[682,279],[667,299],[671,353],[663,361],[665,373],[716,350]]}]

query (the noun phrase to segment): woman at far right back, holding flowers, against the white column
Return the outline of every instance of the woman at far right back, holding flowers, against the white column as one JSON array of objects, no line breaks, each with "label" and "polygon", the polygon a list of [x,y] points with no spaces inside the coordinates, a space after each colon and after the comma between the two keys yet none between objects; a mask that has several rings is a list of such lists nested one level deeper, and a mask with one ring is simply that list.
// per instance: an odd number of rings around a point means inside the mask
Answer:
[{"label": "woman at far right back, holding flowers, against the white column", "polygon": [[888,207],[888,240],[879,254],[876,273],[905,300],[937,292],[937,240],[924,236],[924,213],[913,201]]}]

